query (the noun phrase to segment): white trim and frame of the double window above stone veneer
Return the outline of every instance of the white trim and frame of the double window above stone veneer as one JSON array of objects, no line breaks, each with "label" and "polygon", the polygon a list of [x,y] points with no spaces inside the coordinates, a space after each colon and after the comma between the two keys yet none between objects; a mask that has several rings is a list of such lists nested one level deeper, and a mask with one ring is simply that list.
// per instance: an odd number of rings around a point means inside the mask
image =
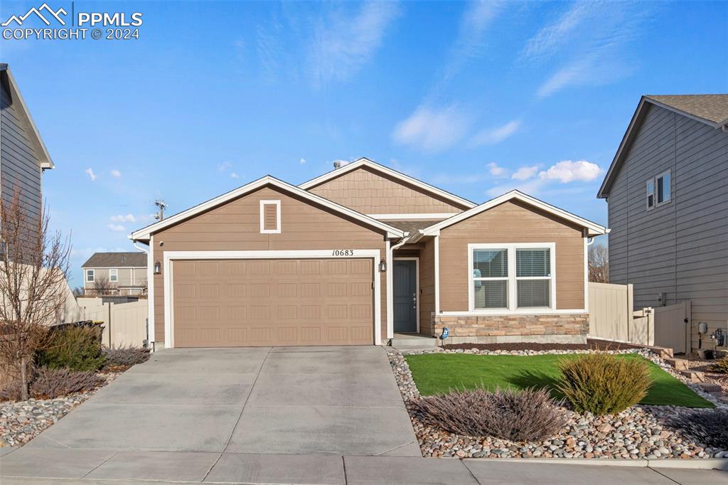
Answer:
[{"label": "white trim and frame of the double window above stone veneer", "polygon": [[[550,250],[551,277],[516,277],[515,250],[523,248],[548,248]],[[488,278],[494,280],[508,280],[508,307],[482,309],[475,308],[475,292],[473,291],[474,277],[472,275],[472,252],[475,249],[506,249],[508,251],[508,277]],[[551,298],[548,307],[518,308],[518,294],[516,291],[518,280],[551,280]],[[556,310],[556,244],[555,242],[509,242],[498,243],[470,243],[467,245],[467,307],[470,315],[508,315],[508,314],[542,314],[545,312],[558,312]],[[581,311],[579,311],[581,312]],[[454,312],[459,314],[463,312]]]}]

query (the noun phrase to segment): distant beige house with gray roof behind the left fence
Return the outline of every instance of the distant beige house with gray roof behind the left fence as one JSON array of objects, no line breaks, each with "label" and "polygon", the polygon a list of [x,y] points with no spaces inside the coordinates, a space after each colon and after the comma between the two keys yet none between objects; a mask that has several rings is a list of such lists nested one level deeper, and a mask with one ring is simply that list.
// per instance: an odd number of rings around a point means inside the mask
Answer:
[{"label": "distant beige house with gray roof behind the left fence", "polygon": [[87,295],[146,295],[145,253],[94,253],[81,267]]}]

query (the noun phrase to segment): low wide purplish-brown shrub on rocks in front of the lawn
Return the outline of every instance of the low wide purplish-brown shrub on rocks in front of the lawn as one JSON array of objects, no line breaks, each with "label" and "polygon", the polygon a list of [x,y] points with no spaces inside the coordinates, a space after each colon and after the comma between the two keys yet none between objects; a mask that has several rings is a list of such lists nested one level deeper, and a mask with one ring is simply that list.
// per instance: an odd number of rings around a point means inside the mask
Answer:
[{"label": "low wide purplish-brown shrub on rocks in front of the lawn", "polygon": [[541,441],[566,425],[561,403],[547,390],[462,390],[422,398],[419,418],[451,433],[508,441]]}]

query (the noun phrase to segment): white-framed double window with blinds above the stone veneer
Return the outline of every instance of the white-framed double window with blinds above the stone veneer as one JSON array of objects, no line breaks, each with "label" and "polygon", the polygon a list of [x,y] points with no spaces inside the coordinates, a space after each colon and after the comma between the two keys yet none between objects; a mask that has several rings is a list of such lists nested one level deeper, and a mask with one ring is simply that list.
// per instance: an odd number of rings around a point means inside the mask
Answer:
[{"label": "white-framed double window with blinds above the stone veneer", "polygon": [[555,244],[470,244],[471,312],[555,308]]}]

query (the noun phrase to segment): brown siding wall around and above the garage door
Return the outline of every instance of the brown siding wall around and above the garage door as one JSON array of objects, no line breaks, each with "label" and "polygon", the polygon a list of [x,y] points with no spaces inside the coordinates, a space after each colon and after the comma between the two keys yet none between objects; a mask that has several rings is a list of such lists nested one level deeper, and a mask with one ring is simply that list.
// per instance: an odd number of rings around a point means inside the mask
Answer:
[{"label": "brown siding wall around and above the garage door", "polygon": [[[261,234],[261,200],[280,200],[280,234]],[[164,251],[333,249],[375,249],[380,251],[379,259],[387,256],[384,234],[269,186],[154,233],[154,261],[164,261]],[[379,275],[381,336],[384,340],[387,338],[387,282],[386,273]],[[164,277],[164,274],[154,275],[154,338],[157,342],[165,340]]]}]

